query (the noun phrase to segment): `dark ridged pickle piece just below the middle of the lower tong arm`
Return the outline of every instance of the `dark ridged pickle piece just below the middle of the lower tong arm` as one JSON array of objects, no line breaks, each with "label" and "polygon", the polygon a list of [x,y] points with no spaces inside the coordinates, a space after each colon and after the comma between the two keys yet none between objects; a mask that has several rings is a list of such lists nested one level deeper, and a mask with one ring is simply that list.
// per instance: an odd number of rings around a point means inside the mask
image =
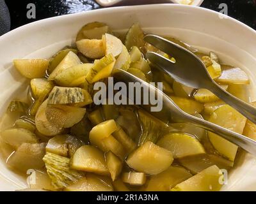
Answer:
[{"label": "dark ridged pickle piece just below the middle of the lower tong arm", "polygon": [[168,125],[143,110],[139,110],[138,115],[142,126],[142,135],[139,145],[143,145],[143,143],[147,141],[153,143],[157,142],[159,136],[163,134],[162,131],[164,131]]}]

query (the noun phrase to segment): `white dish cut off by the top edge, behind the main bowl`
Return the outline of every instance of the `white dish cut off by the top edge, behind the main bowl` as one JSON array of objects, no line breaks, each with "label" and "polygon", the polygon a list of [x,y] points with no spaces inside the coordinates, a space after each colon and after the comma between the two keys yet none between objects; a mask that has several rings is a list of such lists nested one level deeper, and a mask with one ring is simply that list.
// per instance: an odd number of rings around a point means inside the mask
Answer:
[{"label": "white dish cut off by the top edge, behind the main bowl", "polygon": [[[121,3],[126,3],[126,4],[134,4],[134,3],[139,3],[139,4],[147,4],[147,3],[159,3],[159,0],[96,0],[97,3],[99,3],[101,6],[113,6],[115,4],[121,4]],[[165,3],[175,3],[179,4],[179,0],[161,0]],[[204,0],[194,0],[191,6],[200,6],[203,3]]]}]

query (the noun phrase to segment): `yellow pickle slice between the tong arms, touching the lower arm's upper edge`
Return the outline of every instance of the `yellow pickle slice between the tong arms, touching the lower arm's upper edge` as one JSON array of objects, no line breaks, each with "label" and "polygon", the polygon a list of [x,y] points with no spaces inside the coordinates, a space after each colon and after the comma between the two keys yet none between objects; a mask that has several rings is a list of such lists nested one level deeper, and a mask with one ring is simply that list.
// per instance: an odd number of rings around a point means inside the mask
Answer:
[{"label": "yellow pickle slice between the tong arms, touching the lower arm's upper edge", "polygon": [[197,101],[188,98],[181,98],[177,96],[170,96],[172,101],[179,106],[181,110],[189,114],[201,113],[204,110],[204,105]]}]

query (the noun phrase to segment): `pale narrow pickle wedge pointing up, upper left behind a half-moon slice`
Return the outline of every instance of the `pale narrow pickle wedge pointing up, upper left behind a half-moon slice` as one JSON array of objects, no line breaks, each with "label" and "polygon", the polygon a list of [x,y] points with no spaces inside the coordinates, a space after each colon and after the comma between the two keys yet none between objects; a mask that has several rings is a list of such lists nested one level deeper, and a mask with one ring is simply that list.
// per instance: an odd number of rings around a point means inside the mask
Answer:
[{"label": "pale narrow pickle wedge pointing up, upper left behind a half-moon slice", "polygon": [[52,73],[49,75],[48,80],[54,80],[55,77],[61,73],[61,71],[70,68],[72,66],[75,66],[77,64],[81,64],[81,61],[79,57],[77,57],[74,52],[69,51],[68,54],[63,58],[63,60],[56,66],[56,68],[52,71]]}]

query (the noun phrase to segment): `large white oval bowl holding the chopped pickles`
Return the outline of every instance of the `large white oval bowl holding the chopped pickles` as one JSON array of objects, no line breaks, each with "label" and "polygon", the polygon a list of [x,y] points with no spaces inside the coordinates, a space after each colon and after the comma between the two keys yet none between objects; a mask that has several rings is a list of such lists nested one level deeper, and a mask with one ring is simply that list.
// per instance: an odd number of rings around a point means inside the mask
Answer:
[{"label": "large white oval bowl holding the chopped pickles", "polygon": [[[153,15],[154,14],[154,15]],[[24,25],[0,37],[0,114],[12,98],[24,93],[28,83],[13,68],[12,60],[51,57],[72,45],[77,31],[88,22],[106,22],[116,31],[127,31],[140,22],[148,33],[164,34],[185,41],[202,51],[212,50],[228,64],[243,68],[256,82],[256,32],[250,27],[215,11],[179,4],[154,4],[86,11],[48,18]],[[252,100],[255,96],[252,96]],[[223,190],[256,190],[255,157],[242,154],[230,172]],[[26,187],[26,180],[0,162],[0,190]]]}]

